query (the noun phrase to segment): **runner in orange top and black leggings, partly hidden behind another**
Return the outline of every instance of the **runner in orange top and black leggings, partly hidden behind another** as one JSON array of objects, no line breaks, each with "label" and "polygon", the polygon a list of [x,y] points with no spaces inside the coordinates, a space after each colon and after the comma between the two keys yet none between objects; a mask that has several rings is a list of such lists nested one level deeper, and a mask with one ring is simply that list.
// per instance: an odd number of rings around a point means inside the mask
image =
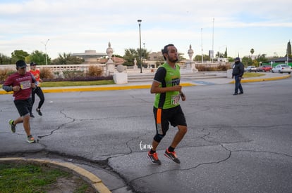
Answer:
[{"label": "runner in orange top and black leggings, partly hidden behind another", "polygon": [[33,104],[35,103],[35,94],[37,94],[37,96],[39,97],[39,104],[37,105],[37,113],[39,114],[39,116],[42,116],[42,112],[40,111],[42,105],[44,104],[44,93],[42,92],[42,88],[41,88],[41,83],[42,83],[42,79],[40,79],[39,77],[39,70],[37,69],[37,63],[35,62],[31,62],[30,63],[30,73],[35,76],[35,89],[32,89],[32,105],[30,108],[30,117],[34,117],[32,114],[32,107]]}]

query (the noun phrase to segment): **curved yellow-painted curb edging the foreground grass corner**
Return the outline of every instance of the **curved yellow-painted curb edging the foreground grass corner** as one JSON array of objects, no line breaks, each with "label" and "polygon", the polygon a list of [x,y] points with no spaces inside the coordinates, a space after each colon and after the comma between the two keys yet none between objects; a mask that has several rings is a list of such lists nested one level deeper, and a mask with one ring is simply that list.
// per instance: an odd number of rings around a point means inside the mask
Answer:
[{"label": "curved yellow-painted curb edging the foreground grass corner", "polygon": [[93,173],[86,171],[79,166],[75,166],[74,164],[68,162],[59,162],[59,161],[52,161],[49,159],[26,159],[22,157],[6,157],[0,158],[0,163],[16,163],[16,164],[36,164],[39,166],[49,166],[51,168],[59,168],[63,171],[67,171],[77,175],[78,177],[82,178],[86,182],[88,182],[92,188],[94,188],[97,192],[100,193],[108,193],[111,192],[109,189],[104,185],[101,179],[99,179]]}]

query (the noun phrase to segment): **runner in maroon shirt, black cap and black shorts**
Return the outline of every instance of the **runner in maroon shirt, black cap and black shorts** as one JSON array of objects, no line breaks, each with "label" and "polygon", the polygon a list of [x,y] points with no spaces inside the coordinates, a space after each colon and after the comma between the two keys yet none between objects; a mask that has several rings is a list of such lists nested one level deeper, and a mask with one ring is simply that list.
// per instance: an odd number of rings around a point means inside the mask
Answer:
[{"label": "runner in maroon shirt, black cap and black shorts", "polygon": [[27,141],[35,142],[30,133],[30,96],[32,88],[35,88],[35,78],[26,71],[26,63],[23,60],[16,62],[17,72],[8,76],[2,88],[6,92],[13,91],[13,102],[20,114],[15,120],[8,121],[12,133],[16,133],[16,124],[23,123],[23,128],[28,136]]}]

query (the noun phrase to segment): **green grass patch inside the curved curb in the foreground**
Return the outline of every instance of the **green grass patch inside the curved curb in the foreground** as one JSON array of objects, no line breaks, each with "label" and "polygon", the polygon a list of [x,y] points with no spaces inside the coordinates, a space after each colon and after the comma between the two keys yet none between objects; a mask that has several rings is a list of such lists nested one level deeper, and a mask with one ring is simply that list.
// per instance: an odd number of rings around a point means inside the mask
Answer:
[{"label": "green grass patch inside the curved curb in the foreground", "polygon": [[[59,178],[75,178],[72,173],[34,164],[0,164],[0,192],[47,192]],[[75,192],[89,185],[82,182]]]}]

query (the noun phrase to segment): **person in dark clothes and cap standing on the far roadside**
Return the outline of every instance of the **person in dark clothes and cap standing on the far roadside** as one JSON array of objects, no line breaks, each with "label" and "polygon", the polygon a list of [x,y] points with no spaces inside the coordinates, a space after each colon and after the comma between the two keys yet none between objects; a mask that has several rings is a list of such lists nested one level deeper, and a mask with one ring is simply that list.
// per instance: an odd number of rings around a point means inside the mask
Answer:
[{"label": "person in dark clothes and cap standing on the far roadside", "polygon": [[[241,79],[243,79],[244,65],[243,63],[241,63],[240,58],[237,57],[234,59],[234,64],[232,68],[233,68],[232,78],[234,77],[236,86],[233,95],[241,95],[243,94],[243,86],[241,86]],[[238,93],[238,88],[240,93]]]}]

